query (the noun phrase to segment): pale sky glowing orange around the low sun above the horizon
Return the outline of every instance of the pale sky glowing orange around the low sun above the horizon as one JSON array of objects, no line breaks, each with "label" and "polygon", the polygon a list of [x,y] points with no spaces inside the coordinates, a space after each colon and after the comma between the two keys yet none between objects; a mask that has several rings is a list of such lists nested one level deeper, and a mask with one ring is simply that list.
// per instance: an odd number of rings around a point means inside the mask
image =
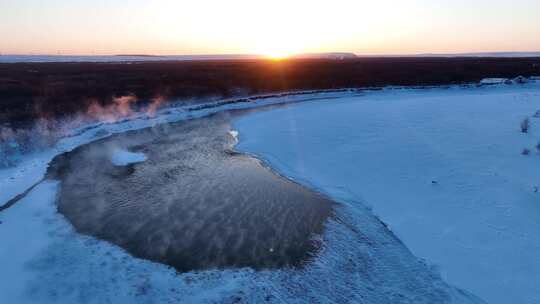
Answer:
[{"label": "pale sky glowing orange around the low sun above the horizon", "polygon": [[540,51],[539,0],[0,0],[2,54]]}]

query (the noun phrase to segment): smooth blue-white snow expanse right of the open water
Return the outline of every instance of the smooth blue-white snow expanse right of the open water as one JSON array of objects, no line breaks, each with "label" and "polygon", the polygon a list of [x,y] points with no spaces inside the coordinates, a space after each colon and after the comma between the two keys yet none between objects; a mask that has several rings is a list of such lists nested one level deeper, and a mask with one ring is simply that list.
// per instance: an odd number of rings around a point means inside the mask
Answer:
[{"label": "smooth blue-white snow expanse right of the open water", "polygon": [[367,204],[450,284],[488,303],[533,304],[538,110],[537,83],[383,90],[259,112],[233,126],[237,150],[342,202],[343,212]]}]

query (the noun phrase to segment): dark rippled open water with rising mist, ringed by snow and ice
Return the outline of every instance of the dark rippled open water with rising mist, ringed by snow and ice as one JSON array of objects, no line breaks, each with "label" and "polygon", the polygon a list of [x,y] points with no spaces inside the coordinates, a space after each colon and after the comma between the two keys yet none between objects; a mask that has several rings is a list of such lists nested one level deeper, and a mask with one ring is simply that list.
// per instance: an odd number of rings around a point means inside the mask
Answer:
[{"label": "dark rippled open water with rising mist, ringed by snow and ice", "polygon": [[[115,135],[57,157],[75,228],[178,271],[301,266],[334,203],[232,151],[229,116]],[[115,166],[118,149],[146,160]]]}]

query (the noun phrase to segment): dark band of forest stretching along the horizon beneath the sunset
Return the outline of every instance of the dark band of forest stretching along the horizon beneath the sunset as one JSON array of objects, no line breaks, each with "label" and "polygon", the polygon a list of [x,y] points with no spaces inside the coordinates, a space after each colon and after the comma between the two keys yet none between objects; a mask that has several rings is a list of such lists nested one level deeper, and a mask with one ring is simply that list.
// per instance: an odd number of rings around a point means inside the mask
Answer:
[{"label": "dark band of forest stretching along the horizon beneath the sunset", "polygon": [[138,103],[277,91],[443,85],[540,75],[540,58],[358,58],[0,64],[0,125],[85,112],[116,96]]}]

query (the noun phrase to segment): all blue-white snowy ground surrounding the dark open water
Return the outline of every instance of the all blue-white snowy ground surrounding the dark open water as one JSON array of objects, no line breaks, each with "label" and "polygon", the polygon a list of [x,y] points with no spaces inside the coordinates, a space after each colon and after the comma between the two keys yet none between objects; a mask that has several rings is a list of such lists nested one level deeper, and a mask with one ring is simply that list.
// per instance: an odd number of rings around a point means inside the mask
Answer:
[{"label": "all blue-white snowy ground surrounding the dark open water", "polygon": [[[304,100],[248,114],[232,134],[238,150],[342,204],[306,269],[176,274],[75,233],[56,212],[59,185],[46,181],[0,212],[0,303],[481,302],[467,292],[488,303],[540,301],[536,83],[292,96],[99,124],[0,170],[0,204],[39,181],[54,155],[89,141]],[[522,134],[527,116],[531,130]],[[145,158],[124,152],[122,161]],[[366,206],[433,267],[396,244]]]}]

